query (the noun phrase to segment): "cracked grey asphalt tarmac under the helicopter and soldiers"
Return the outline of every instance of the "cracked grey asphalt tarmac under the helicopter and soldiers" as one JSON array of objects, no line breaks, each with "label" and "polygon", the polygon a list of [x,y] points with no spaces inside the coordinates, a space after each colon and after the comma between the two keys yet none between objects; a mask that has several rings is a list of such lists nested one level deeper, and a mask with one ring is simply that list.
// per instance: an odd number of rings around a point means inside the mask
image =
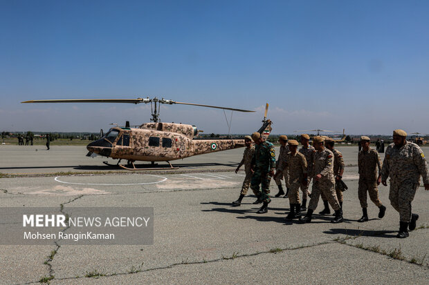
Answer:
[{"label": "cracked grey asphalt tarmac under the helicopter and soldiers", "polygon": [[[369,222],[358,223],[357,148],[338,146],[349,186],[345,222],[331,224],[331,215],[287,222],[283,197],[264,215],[251,195],[231,205],[244,179],[233,171],[243,150],[172,161],[179,171],[130,173],[85,157],[84,147],[0,146],[0,173],[21,174],[0,178],[2,207],[154,208],[153,245],[2,245],[0,284],[428,284],[429,191],[417,190],[412,208],[420,217],[407,239],[395,238],[399,215],[388,187],[379,187],[385,217],[368,198]],[[0,226],[7,229],[4,219]]]}]

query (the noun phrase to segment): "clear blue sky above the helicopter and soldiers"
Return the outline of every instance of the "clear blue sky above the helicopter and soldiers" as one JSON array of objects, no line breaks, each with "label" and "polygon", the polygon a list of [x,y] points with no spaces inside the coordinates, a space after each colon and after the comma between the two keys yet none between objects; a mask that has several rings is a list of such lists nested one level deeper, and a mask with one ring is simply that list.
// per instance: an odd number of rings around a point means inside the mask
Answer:
[{"label": "clear blue sky above the helicopter and soldiers", "polygon": [[[0,1],[0,130],[91,131],[149,106],[19,104],[165,97],[257,110],[231,132],[427,132],[428,1]],[[227,113],[229,116],[230,114]],[[227,132],[221,110],[163,121]]]}]

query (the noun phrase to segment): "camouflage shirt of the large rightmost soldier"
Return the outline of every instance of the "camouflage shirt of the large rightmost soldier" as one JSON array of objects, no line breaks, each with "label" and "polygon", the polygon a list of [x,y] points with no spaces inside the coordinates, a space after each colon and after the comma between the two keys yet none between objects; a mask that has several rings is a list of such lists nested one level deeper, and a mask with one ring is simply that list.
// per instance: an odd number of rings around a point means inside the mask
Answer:
[{"label": "camouflage shirt of the large rightmost soldier", "polygon": [[394,144],[387,146],[381,170],[383,181],[390,177],[394,181],[401,182],[410,179],[414,183],[418,183],[420,175],[423,183],[429,183],[428,162],[423,150],[417,144],[405,141],[400,148]]}]

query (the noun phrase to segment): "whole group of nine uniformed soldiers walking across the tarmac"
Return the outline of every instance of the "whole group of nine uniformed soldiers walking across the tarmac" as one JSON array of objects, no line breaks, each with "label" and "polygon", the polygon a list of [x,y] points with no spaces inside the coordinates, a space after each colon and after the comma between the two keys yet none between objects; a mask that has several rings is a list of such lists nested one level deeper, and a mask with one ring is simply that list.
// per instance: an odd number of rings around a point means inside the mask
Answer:
[{"label": "whole group of nine uniformed soldiers walking across the tarmac", "polygon": [[[369,137],[360,137],[361,150],[358,153],[358,199],[363,212],[358,222],[369,220],[367,193],[369,199],[378,207],[378,218],[384,217],[386,207],[378,198],[378,185],[382,183],[387,186],[387,178],[390,177],[389,199],[392,207],[399,212],[400,226],[396,235],[399,238],[408,237],[408,230],[416,228],[419,215],[412,213],[411,202],[420,185],[420,176],[423,178],[424,188],[429,190],[428,164],[423,151],[417,144],[407,141],[406,137],[404,130],[394,130],[393,143],[386,149],[383,164],[378,152],[369,147]],[[252,141],[255,144],[252,144]],[[334,148],[335,141],[329,137],[316,136],[313,137],[313,146],[310,146],[310,137],[304,134],[300,137],[302,146],[299,150],[298,141],[295,139],[281,135],[279,141],[280,154],[276,161],[273,144],[266,141],[259,132],[245,137],[246,149],[235,172],[244,165],[246,177],[239,198],[232,204],[240,206],[250,186],[257,197],[253,204],[262,204],[257,213],[267,213],[268,204],[271,202],[270,182],[273,177],[279,188],[275,197],[284,195],[289,198],[290,211],[286,215],[287,220],[298,219],[300,224],[311,222],[319,197],[322,196],[325,208],[319,214],[329,215],[330,205],[335,212],[331,223],[343,222],[343,191],[347,189],[342,180],[345,164],[343,155]],[[282,188],[282,179],[286,185],[286,193]],[[313,186],[309,193],[311,179]],[[307,197],[310,197],[308,209]],[[301,211],[306,209],[307,213],[302,217]]]}]

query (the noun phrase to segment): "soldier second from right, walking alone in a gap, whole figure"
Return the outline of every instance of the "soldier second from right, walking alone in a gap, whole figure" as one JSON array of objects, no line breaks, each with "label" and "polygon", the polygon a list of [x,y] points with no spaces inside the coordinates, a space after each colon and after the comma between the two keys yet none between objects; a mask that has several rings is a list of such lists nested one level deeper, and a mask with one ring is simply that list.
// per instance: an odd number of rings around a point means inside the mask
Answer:
[{"label": "soldier second from right, walking alone in a gap, whole figure", "polygon": [[[360,206],[362,207],[362,217],[358,219],[358,222],[367,222],[367,193],[369,199],[378,207],[378,217],[381,219],[385,215],[386,207],[381,204],[378,199],[378,188],[381,182],[381,161],[380,156],[376,150],[369,148],[371,139],[367,136],[360,137],[360,145],[362,150],[358,153],[358,172],[359,172],[359,184],[358,184],[358,198]],[[377,175],[378,168],[378,175]]]}]

